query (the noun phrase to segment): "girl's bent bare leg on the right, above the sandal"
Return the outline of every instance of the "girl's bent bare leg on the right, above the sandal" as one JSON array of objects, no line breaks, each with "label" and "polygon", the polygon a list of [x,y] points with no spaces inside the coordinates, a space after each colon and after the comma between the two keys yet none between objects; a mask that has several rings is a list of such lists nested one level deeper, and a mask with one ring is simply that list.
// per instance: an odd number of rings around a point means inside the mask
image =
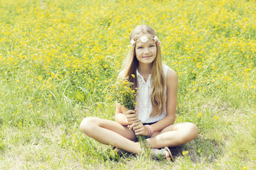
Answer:
[{"label": "girl's bent bare leg on the right, above the sandal", "polygon": [[154,148],[174,147],[188,143],[197,136],[198,127],[193,123],[184,122],[169,125],[160,132],[154,132],[147,141]]}]

